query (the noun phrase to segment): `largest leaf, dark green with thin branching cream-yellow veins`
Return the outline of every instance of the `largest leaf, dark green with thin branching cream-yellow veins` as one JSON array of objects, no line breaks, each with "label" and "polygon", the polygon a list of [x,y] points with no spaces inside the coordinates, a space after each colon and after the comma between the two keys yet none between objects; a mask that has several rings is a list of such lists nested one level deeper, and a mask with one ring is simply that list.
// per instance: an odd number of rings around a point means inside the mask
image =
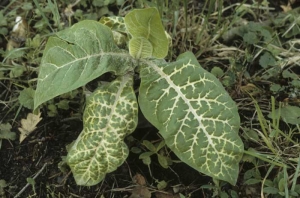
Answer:
[{"label": "largest leaf, dark green with thin branching cream-yellow veins", "polygon": [[148,64],[140,73],[144,116],[183,162],[235,184],[243,142],[236,104],[222,84],[190,52],[174,63]]}]

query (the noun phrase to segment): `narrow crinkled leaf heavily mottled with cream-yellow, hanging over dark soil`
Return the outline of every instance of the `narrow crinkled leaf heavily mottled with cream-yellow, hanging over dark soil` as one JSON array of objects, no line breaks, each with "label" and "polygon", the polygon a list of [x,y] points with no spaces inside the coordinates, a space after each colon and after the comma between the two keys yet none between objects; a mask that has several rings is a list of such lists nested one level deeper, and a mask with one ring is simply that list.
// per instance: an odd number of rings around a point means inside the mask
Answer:
[{"label": "narrow crinkled leaf heavily mottled with cream-yellow, hanging over dark soil", "polygon": [[84,128],[69,150],[67,163],[78,185],[92,186],[128,155],[126,135],[137,125],[133,78],[125,75],[96,89],[87,99]]}]

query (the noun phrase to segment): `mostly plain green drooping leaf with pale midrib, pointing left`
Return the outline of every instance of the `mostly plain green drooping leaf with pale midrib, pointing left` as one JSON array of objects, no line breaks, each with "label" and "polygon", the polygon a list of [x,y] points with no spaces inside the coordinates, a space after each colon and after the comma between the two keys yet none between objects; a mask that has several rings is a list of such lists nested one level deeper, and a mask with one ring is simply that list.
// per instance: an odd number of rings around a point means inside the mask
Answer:
[{"label": "mostly plain green drooping leaf with pale midrib, pointing left", "polygon": [[114,44],[111,30],[96,21],[82,21],[50,37],[41,61],[34,108],[85,85],[103,73],[132,70],[132,58]]}]

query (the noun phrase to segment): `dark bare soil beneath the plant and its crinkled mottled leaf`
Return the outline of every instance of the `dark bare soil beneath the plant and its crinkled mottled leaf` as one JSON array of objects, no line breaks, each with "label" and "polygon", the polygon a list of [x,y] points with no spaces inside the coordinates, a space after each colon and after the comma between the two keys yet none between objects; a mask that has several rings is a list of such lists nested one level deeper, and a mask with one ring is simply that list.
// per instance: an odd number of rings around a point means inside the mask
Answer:
[{"label": "dark bare soil beneath the plant and its crinkled mottled leaf", "polygon": [[[162,190],[164,192],[172,192],[172,186],[177,186],[182,194],[210,197],[209,191],[199,189],[201,185],[211,182],[209,177],[201,175],[184,163],[174,163],[169,169],[164,169],[156,157],[152,157],[149,167],[151,175],[148,167],[139,159],[139,154],[132,152],[123,165],[107,174],[103,182],[93,187],[77,186],[69,169],[63,167],[63,172],[59,169],[59,163],[67,154],[66,145],[76,139],[81,129],[80,120],[61,122],[57,118],[46,118],[21,144],[18,141],[3,140],[0,150],[0,175],[8,186],[4,188],[1,198],[15,197],[18,193],[19,197],[129,197],[136,185],[132,177],[137,173],[146,179],[147,187],[154,189],[153,194],[157,191],[156,180],[165,180],[168,187]],[[149,125],[147,128],[137,129],[131,136],[134,139],[147,140],[159,138],[156,129]],[[131,147],[140,146],[139,142],[128,144]],[[172,159],[176,160],[176,157],[172,156]],[[28,185],[27,179],[35,176],[35,186]],[[25,190],[22,192],[23,189]]]}]

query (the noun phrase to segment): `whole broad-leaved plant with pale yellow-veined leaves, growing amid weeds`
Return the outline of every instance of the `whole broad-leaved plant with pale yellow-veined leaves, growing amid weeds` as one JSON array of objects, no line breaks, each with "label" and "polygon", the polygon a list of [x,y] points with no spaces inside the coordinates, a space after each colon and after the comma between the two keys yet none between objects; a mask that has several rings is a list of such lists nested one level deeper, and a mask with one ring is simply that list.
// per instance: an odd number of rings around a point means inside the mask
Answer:
[{"label": "whole broad-leaved plant with pale yellow-veined leaves, growing amid weeds", "polygon": [[124,138],[137,126],[139,105],[181,161],[234,185],[243,155],[235,102],[191,52],[175,62],[162,59],[169,44],[156,8],[133,10],[123,21],[129,50],[115,42],[113,32],[120,29],[91,20],[50,37],[44,50],[35,109],[104,73],[116,76],[86,99],[83,131],[66,158],[77,184],[95,185],[125,161]]}]

